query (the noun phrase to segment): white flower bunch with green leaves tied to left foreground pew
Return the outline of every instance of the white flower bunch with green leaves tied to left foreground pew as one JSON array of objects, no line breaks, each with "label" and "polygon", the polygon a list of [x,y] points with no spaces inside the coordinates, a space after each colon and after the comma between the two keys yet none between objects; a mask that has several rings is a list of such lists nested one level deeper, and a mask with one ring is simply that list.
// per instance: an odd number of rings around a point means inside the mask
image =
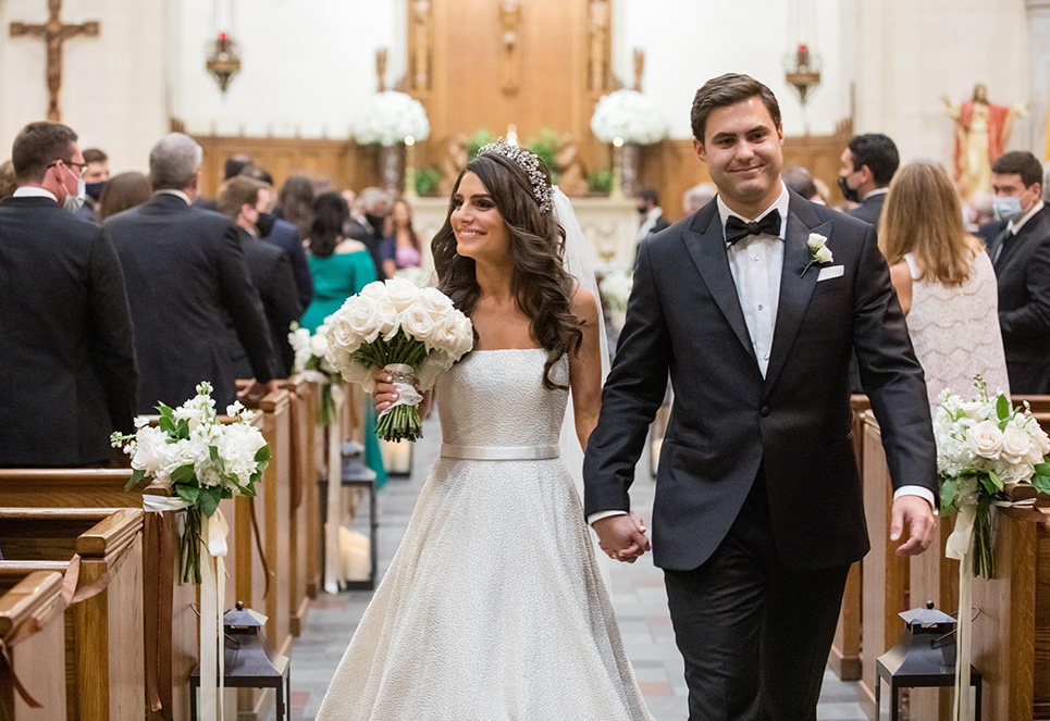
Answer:
[{"label": "white flower bunch with green leaves tied to left foreground pew", "polygon": [[159,405],[157,426],[139,417],[134,435],[114,433],[110,438],[132,457],[134,472],[125,490],[152,481],[170,490],[173,504],[168,508],[187,511],[178,543],[180,583],[200,584],[201,542],[206,546],[214,542],[202,537],[202,523],[217,513],[223,498],[254,497],[255,484],[270,462],[270,447],[259,428],[250,425],[254,413],[235,402],[226,408],[234,421],[223,424],[211,390],[210,383],[201,383],[197,396],[178,408]]}]

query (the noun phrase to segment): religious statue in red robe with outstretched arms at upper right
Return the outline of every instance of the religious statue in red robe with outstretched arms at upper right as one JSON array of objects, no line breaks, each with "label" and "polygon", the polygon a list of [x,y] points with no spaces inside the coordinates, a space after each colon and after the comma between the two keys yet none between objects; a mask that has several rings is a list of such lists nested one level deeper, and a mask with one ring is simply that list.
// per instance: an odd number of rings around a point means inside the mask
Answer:
[{"label": "religious statue in red robe with outstretched arms at upper right", "polygon": [[1002,156],[1014,119],[1027,115],[1027,103],[988,102],[988,88],[983,84],[975,85],[973,96],[959,105],[947,97],[942,100],[955,121],[955,185],[968,201],[975,192],[991,189],[991,164]]}]

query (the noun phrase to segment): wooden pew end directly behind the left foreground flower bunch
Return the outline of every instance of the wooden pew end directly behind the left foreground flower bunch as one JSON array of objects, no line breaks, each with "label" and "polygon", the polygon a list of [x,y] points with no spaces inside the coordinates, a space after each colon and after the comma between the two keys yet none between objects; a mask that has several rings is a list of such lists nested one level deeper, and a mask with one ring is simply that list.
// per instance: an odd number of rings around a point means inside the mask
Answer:
[{"label": "wooden pew end directly behind the left foreground flower bunch", "polygon": [[[268,394],[258,402],[262,435],[270,444],[270,465],[256,484],[255,498],[235,499],[232,535],[243,550],[236,556],[236,598],[227,597],[267,616],[265,637],[273,650],[289,655],[291,633],[291,555],[292,525],[292,426],[288,391]],[[252,518],[254,517],[254,518]],[[258,537],[256,536],[258,534]],[[261,550],[260,550],[261,548]],[[249,721],[265,718],[273,695],[252,688],[237,693],[238,718]]]}]

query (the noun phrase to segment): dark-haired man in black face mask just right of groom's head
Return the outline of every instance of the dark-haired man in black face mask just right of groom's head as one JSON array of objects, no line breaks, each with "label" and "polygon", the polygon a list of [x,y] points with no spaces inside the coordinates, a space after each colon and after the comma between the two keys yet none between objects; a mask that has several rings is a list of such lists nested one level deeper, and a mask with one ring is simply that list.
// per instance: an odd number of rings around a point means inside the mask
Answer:
[{"label": "dark-haired man in black face mask just right of groom's head", "polygon": [[842,197],[861,203],[848,214],[878,227],[890,181],[901,164],[897,146],[881,133],[857,135],[850,140],[839,160]]}]

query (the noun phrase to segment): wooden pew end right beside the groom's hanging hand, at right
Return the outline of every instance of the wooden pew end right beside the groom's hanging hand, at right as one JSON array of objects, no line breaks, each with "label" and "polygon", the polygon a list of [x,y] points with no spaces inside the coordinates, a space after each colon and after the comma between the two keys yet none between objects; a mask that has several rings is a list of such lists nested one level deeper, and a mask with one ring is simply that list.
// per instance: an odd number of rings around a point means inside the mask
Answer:
[{"label": "wooden pew end right beside the groom's hanging hand, at right", "polygon": [[861,707],[875,718],[875,661],[900,641],[904,622],[897,616],[907,610],[909,559],[897,555],[900,542],[890,542],[893,485],[890,482],[882,436],[870,411],[861,414],[864,427],[864,513],[872,550],[864,557],[861,620]]}]

